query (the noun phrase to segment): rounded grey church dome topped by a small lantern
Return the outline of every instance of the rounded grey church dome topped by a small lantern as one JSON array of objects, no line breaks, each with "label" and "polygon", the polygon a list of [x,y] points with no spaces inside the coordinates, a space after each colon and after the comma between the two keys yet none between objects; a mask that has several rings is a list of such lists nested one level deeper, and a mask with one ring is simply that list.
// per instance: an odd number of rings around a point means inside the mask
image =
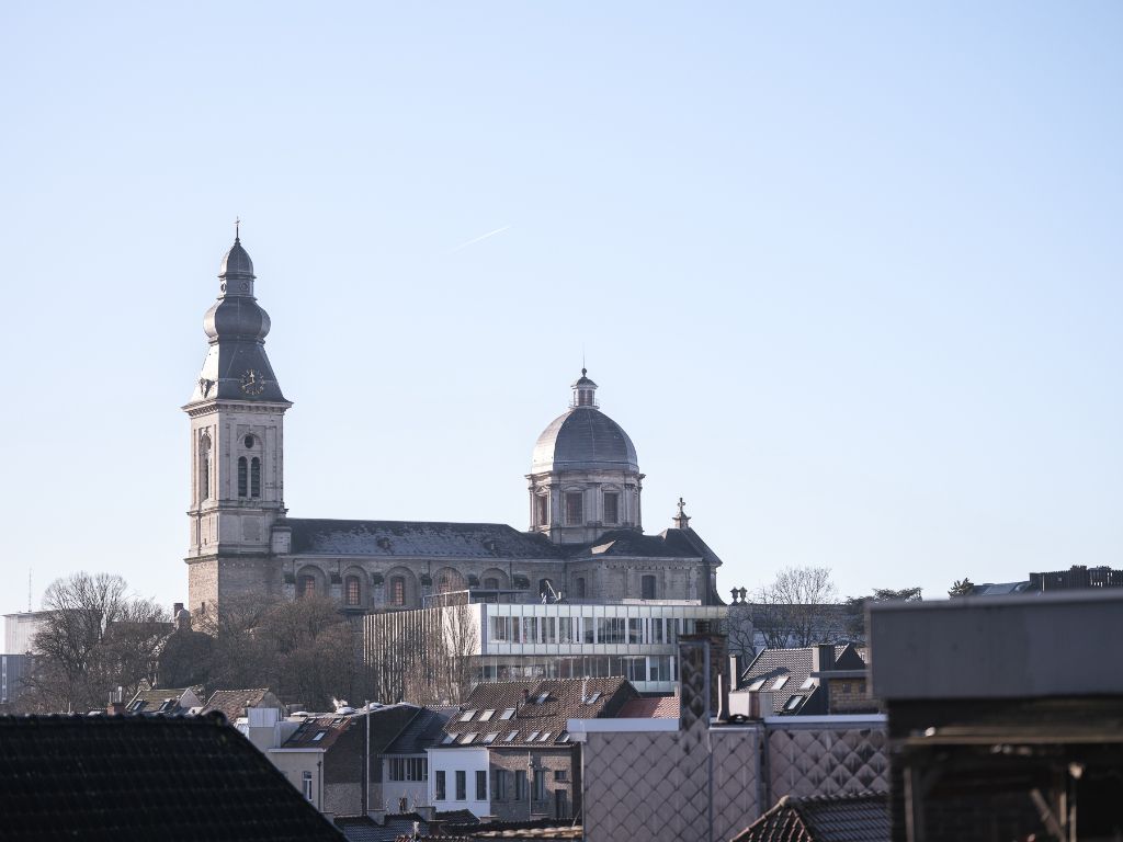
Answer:
[{"label": "rounded grey church dome topped by a small lantern", "polygon": [[535,443],[531,474],[556,470],[639,472],[636,446],[615,421],[596,408],[596,384],[581,370],[569,411],[550,422]]}]

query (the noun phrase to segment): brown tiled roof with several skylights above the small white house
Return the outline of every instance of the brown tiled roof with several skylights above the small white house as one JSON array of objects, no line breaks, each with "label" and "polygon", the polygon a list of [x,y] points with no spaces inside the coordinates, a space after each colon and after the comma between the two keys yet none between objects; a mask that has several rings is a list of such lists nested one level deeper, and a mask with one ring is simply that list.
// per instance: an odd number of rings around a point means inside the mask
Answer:
[{"label": "brown tiled roof with several skylights above the small white house", "polygon": [[[523,696],[523,690],[527,695]],[[585,701],[582,701],[582,693]],[[592,720],[614,716],[629,699],[639,694],[624,678],[555,678],[544,681],[497,681],[476,685],[464,704],[445,725],[445,733],[455,738],[442,747],[485,745],[504,749],[550,748],[567,733],[567,720]],[[526,703],[523,699],[528,699]],[[541,698],[541,703],[538,699]],[[489,714],[489,711],[491,712]],[[508,715],[509,714],[509,715]],[[506,719],[504,719],[506,715]],[[483,719],[486,717],[486,719]],[[465,735],[476,734],[471,743]],[[494,741],[484,742],[489,734]],[[515,734],[513,739],[508,735]],[[542,736],[549,734],[546,741]],[[529,738],[533,736],[533,740]]]}]

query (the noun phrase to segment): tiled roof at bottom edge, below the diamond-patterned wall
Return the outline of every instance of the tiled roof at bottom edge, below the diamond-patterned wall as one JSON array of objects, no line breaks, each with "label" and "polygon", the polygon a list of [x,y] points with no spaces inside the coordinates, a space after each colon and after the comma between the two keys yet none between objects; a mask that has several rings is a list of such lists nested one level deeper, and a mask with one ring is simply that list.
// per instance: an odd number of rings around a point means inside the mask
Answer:
[{"label": "tiled roof at bottom edge, below the diamond-patterned wall", "polygon": [[885,793],[785,796],[732,842],[888,842]]}]

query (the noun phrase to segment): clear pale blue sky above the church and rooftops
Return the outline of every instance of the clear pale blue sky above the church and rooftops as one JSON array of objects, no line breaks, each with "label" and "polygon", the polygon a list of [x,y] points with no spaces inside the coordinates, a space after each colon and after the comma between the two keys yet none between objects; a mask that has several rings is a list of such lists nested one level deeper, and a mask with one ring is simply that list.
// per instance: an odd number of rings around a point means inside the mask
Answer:
[{"label": "clear pale blue sky above the church and rooftops", "polygon": [[294,516],[524,528],[584,349],[723,593],[1123,566],[1123,6],[605,6],[4,4],[0,611],[185,597],[236,214]]}]

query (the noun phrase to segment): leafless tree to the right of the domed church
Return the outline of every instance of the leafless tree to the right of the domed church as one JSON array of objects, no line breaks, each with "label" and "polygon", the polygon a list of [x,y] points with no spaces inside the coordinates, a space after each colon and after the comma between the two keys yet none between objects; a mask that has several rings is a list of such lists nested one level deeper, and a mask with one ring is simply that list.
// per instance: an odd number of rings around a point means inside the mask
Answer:
[{"label": "leafless tree to the right of the domed church", "polygon": [[752,621],[769,649],[830,643],[840,637],[838,589],[828,567],[788,567],[761,588]]}]

